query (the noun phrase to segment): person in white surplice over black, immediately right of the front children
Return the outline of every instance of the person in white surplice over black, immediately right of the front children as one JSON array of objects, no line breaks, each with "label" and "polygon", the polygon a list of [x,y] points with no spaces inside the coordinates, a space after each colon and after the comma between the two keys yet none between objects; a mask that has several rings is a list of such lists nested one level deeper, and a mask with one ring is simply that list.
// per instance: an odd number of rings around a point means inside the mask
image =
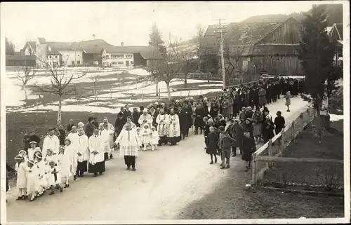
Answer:
[{"label": "person in white surplice over black, immediately right of the front children", "polygon": [[88,136],[85,135],[83,128],[78,128],[77,138],[77,177],[83,177],[84,172],[88,171],[89,149],[88,149]]}]

